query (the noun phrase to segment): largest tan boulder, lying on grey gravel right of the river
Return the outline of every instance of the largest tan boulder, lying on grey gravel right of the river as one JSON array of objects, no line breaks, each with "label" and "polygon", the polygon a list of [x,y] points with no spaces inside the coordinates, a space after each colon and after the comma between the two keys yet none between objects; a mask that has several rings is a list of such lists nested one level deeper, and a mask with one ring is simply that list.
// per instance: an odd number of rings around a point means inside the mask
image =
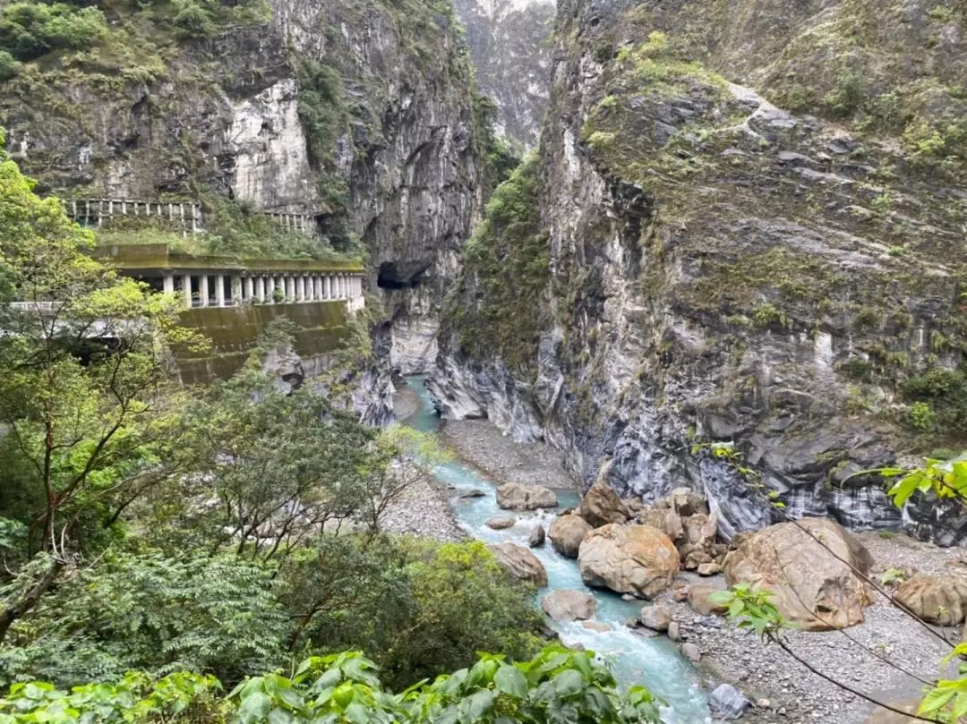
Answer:
[{"label": "largest tan boulder, lying on grey gravel right of the river", "polygon": [[860,541],[835,521],[804,518],[743,536],[725,557],[724,569],[729,586],[747,583],[769,589],[786,619],[818,631],[863,622],[869,592],[850,565],[864,575],[873,565]]}]

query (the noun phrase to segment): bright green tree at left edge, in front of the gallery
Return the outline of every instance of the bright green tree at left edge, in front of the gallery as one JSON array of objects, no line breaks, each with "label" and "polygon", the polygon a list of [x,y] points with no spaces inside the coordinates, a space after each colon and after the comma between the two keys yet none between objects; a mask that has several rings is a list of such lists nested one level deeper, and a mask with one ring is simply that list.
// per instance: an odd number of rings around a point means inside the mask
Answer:
[{"label": "bright green tree at left edge, in front of the gallery", "polygon": [[[165,350],[194,344],[177,305],[85,254],[91,235],[0,160],[0,484],[23,487],[28,580],[0,604],[0,641],[159,475]],[[90,526],[92,519],[101,525]]]}]

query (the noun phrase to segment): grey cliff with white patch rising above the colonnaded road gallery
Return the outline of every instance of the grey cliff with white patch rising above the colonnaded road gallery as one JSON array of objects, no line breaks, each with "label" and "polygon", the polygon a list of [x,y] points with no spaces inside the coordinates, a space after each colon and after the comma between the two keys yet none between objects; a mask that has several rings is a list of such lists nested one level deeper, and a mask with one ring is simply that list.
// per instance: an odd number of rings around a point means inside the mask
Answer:
[{"label": "grey cliff with white patch rising above the colonnaded road gallery", "polygon": [[96,5],[100,35],[18,65],[0,99],[9,148],[42,190],[313,215],[386,290],[377,347],[392,340],[398,366],[425,368],[482,155],[450,4]]}]

